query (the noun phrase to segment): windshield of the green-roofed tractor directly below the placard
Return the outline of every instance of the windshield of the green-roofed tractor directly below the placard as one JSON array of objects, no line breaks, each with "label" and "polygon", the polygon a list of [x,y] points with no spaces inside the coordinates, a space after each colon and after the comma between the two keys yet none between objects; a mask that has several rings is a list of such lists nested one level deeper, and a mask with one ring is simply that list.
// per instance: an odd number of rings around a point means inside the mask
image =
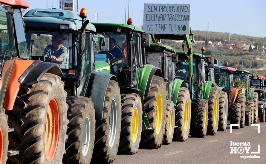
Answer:
[{"label": "windshield of the green-roofed tractor directly below the placard", "polygon": [[158,67],[160,69],[162,69],[162,56],[163,53],[162,52],[149,52],[146,51],[146,62],[147,64],[152,64],[155,67]]}]

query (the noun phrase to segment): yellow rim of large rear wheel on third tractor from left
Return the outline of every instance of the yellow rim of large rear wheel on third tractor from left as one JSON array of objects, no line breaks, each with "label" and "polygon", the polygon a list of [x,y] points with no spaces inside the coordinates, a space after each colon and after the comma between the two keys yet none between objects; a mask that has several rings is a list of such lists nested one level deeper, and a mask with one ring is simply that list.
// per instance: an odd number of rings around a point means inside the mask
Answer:
[{"label": "yellow rim of large rear wheel on third tractor from left", "polygon": [[160,133],[161,126],[163,122],[163,98],[161,93],[158,93],[156,102],[156,112],[155,112],[155,130],[156,134]]}]

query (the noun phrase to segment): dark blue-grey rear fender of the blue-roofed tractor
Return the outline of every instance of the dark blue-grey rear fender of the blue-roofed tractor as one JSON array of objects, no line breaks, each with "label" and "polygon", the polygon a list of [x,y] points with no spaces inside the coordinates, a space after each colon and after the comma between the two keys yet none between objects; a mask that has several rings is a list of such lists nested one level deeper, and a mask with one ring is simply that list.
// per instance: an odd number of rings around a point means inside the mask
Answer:
[{"label": "dark blue-grey rear fender of the blue-roofed tractor", "polygon": [[117,81],[114,75],[102,72],[91,72],[85,97],[91,98],[94,104],[96,121],[103,119],[103,104],[106,89],[110,80]]}]

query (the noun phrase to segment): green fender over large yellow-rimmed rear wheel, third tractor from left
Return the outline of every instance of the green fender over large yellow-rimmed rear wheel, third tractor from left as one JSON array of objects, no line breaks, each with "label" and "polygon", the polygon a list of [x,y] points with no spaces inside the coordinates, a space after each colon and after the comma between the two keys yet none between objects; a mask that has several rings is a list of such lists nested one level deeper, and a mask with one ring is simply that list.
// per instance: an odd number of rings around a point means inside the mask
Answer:
[{"label": "green fender over large yellow-rimmed rear wheel, third tractor from left", "polygon": [[139,79],[139,85],[138,85],[138,89],[141,90],[143,94],[143,98],[145,96],[148,96],[149,94],[149,89],[152,83],[152,78],[153,76],[159,76],[163,78],[163,73],[162,71],[151,65],[151,64],[145,64],[144,68],[141,69],[140,71],[140,79]]}]

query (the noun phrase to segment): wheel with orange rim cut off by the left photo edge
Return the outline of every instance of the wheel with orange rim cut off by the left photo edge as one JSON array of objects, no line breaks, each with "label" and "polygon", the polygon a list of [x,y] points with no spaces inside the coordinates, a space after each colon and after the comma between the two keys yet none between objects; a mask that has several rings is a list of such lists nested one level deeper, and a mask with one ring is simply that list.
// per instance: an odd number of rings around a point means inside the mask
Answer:
[{"label": "wheel with orange rim cut off by the left photo edge", "polygon": [[7,161],[8,126],[5,109],[0,108],[0,163]]}]

